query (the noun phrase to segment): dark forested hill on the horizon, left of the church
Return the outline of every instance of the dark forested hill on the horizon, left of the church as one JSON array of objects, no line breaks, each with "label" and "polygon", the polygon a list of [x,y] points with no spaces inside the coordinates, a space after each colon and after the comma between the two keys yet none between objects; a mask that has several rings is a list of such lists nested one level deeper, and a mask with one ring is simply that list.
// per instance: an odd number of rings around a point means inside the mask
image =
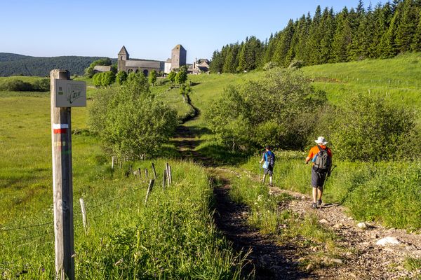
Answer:
[{"label": "dark forested hill on the horizon, left of the church", "polygon": [[[104,57],[31,57],[0,52],[0,76],[48,76],[52,69],[67,69],[72,75],[83,75],[94,60]],[[112,59],[116,62],[116,59]]]}]

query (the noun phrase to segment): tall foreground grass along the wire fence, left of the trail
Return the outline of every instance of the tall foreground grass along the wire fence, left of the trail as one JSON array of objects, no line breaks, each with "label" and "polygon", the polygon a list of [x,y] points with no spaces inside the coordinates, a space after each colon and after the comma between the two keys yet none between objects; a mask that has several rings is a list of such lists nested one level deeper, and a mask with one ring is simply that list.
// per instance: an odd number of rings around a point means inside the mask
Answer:
[{"label": "tall foreground grass along the wire fence, left of the trail", "polygon": [[[133,168],[145,169],[150,163],[135,162]],[[160,171],[165,161],[155,164]],[[147,181],[126,178],[119,170],[103,169],[91,186],[74,194],[77,278],[239,279],[243,258],[215,229],[210,209],[213,192],[206,172],[187,162],[170,164],[173,186],[163,190],[160,176],[147,205]],[[88,213],[86,234],[79,195]],[[24,225],[46,221],[52,221],[50,207]],[[10,228],[13,223],[0,230],[4,242],[0,271],[6,279],[22,271],[29,279],[52,279],[53,224],[4,231]]]}]

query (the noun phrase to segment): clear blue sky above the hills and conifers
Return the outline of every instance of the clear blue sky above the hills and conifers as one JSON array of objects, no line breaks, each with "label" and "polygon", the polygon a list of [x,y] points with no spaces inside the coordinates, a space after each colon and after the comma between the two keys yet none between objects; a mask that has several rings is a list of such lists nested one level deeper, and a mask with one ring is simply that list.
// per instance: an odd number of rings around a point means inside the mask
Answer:
[{"label": "clear blue sky above the hills and conifers", "polygon": [[214,50],[246,36],[265,40],[290,18],[307,12],[313,15],[317,5],[339,11],[355,7],[358,0],[0,3],[0,52],[116,57],[126,45],[133,58],[165,60],[181,43],[187,49],[187,62],[192,62],[195,57],[210,59]]}]

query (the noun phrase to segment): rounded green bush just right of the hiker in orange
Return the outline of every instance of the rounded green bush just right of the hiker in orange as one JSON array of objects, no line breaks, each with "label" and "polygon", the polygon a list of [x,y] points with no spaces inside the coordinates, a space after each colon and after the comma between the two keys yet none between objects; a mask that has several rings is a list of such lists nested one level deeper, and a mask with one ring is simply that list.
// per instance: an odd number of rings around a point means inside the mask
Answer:
[{"label": "rounded green bush just right of the hiker in orange", "polygon": [[358,96],[335,113],[330,141],[342,160],[400,160],[417,158],[420,134],[415,113],[375,97]]}]

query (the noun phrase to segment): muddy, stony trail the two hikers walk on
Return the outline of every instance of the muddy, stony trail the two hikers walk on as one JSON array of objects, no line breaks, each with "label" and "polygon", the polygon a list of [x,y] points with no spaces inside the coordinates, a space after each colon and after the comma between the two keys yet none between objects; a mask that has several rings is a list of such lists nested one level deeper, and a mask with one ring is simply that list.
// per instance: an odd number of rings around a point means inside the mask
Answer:
[{"label": "muddy, stony trail the two hikers walk on", "polygon": [[[243,277],[254,279],[421,279],[421,269],[408,268],[408,258],[420,260],[421,236],[403,230],[387,229],[367,223],[366,229],[356,226],[347,209],[337,204],[311,208],[311,197],[274,186],[270,195],[287,193],[292,200],[279,205],[301,219],[309,214],[317,223],[332,230],[338,237],[336,255],[328,254],[328,244],[316,244],[305,237],[281,240],[276,235],[262,235],[248,225],[250,209],[232,202],[229,197],[234,176],[248,176],[254,184],[258,178],[246,170],[218,167],[212,158],[200,155],[195,148],[205,131],[180,125],[173,143],[182,158],[203,165],[213,179],[215,223],[238,251],[250,252]],[[310,191],[310,190],[309,190]],[[383,237],[396,237],[399,244],[380,246]],[[314,256],[316,255],[316,258]],[[418,266],[419,267],[419,266]],[[409,270],[408,270],[409,269]]]}]

